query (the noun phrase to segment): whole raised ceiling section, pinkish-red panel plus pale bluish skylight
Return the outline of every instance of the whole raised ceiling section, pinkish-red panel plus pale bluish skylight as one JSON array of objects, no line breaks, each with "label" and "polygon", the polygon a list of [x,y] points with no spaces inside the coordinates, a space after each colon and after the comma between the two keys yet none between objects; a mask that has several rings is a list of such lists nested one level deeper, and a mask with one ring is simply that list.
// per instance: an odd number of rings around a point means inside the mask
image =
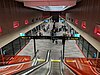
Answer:
[{"label": "whole raised ceiling section, pinkish-red panel plus pale bluish skylight", "polygon": [[43,11],[64,11],[76,5],[77,0],[16,0],[24,6]]}]

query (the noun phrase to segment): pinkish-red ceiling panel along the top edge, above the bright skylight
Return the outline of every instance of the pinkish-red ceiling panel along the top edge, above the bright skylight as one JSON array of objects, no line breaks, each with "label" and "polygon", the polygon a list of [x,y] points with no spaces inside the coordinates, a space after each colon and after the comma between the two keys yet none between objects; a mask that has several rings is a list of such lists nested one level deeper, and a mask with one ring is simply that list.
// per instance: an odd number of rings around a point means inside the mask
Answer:
[{"label": "pinkish-red ceiling panel along the top edge, above the bright skylight", "polygon": [[25,6],[73,6],[77,0],[16,0]]}]

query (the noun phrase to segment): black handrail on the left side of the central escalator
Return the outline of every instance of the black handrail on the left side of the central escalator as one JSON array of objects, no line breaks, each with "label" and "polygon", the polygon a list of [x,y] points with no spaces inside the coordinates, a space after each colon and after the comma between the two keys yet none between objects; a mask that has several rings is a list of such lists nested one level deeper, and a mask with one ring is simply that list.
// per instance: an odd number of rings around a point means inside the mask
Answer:
[{"label": "black handrail on the left side of the central escalator", "polygon": [[26,70],[20,71],[18,73],[13,74],[13,75],[29,75],[33,71],[43,67],[44,65],[46,65],[50,61],[50,53],[51,53],[51,50],[48,50],[47,54],[46,54],[46,60],[45,60],[44,63],[41,63],[41,64],[39,64],[37,66],[32,66],[32,67],[30,67],[30,68],[28,68]]}]

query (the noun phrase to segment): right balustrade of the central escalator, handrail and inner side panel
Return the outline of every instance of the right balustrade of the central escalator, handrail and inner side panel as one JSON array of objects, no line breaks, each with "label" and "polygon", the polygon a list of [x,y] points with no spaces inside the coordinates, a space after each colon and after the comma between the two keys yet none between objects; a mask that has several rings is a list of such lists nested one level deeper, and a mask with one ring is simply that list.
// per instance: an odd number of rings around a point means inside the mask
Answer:
[{"label": "right balustrade of the central escalator, handrail and inner side panel", "polygon": [[63,60],[62,51],[61,51],[61,62],[60,62],[60,70],[62,75],[77,75],[72,69],[70,69]]}]

